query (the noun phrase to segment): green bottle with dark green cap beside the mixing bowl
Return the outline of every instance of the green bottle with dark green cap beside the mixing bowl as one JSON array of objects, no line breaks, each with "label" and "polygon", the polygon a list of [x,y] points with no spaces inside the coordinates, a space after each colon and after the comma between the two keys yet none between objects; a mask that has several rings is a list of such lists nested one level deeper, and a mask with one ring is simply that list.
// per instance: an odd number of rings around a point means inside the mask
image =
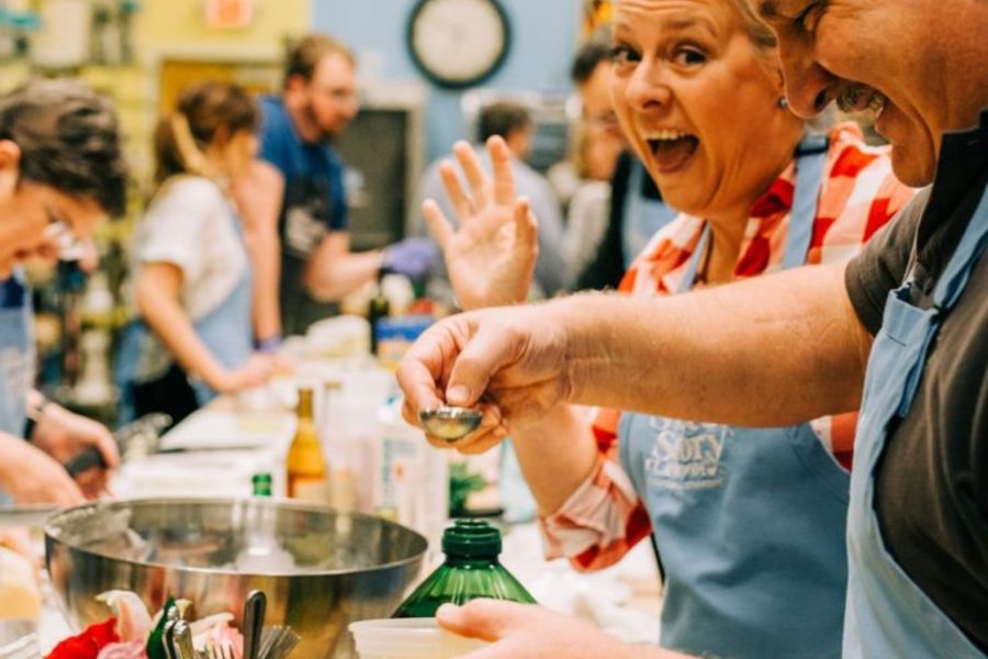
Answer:
[{"label": "green bottle with dark green cap beside the mixing bowl", "polygon": [[497,560],[501,532],[486,522],[458,520],[442,534],[442,552],[446,562],[408,595],[392,617],[434,617],[447,602],[463,604],[478,597],[536,603]]}]

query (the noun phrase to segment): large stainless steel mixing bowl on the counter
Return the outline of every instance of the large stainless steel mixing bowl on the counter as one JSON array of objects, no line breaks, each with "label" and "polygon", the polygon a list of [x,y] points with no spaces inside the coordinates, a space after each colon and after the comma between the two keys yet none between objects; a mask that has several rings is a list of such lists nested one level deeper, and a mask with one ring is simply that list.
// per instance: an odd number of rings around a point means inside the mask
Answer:
[{"label": "large stainless steel mixing bowl on the counter", "polygon": [[302,636],[299,659],[356,657],[347,625],[391,615],[426,547],[398,524],[270,499],[96,503],[45,526],[48,572],[72,624],[105,619],[96,595],[126,589],[151,613],[175,595],[198,617],[228,611],[239,626],[244,600],[260,589],[266,624]]}]

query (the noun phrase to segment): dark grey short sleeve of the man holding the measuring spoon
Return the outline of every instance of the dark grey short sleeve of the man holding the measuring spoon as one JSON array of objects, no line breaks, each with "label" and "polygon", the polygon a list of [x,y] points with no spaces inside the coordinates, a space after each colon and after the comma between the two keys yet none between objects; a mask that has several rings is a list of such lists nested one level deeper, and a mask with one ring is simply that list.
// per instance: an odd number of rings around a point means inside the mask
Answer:
[{"label": "dark grey short sleeve of the man holding the measuring spoon", "polygon": [[919,192],[888,224],[882,227],[844,270],[844,286],[857,319],[874,336],[882,330],[888,292],[906,278],[916,231],[930,199]]}]

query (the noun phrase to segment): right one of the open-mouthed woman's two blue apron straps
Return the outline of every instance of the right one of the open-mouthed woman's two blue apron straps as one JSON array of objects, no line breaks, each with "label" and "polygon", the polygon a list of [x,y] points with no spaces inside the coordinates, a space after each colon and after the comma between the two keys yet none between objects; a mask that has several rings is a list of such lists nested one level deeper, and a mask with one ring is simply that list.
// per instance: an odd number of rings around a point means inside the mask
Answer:
[{"label": "right one of the open-mouthed woman's two blue apron straps", "polygon": [[789,214],[789,237],[783,257],[783,268],[798,268],[806,264],[813,237],[820,183],[830,141],[822,135],[807,135],[796,149],[796,190]]}]

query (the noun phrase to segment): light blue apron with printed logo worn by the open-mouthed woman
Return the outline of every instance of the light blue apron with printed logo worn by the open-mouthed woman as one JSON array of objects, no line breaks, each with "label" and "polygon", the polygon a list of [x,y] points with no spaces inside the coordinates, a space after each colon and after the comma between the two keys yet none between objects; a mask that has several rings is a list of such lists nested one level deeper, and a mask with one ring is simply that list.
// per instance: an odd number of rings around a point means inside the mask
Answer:
[{"label": "light blue apron with printed logo worn by the open-mouthed woman", "polygon": [[[826,150],[821,138],[797,152],[785,268],[806,261]],[[678,292],[693,287],[708,241],[709,225]],[[665,568],[663,647],[840,657],[850,477],[808,423],[751,428],[626,414],[619,447]]]}]

